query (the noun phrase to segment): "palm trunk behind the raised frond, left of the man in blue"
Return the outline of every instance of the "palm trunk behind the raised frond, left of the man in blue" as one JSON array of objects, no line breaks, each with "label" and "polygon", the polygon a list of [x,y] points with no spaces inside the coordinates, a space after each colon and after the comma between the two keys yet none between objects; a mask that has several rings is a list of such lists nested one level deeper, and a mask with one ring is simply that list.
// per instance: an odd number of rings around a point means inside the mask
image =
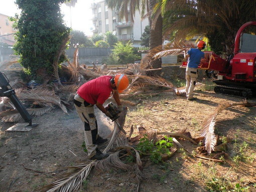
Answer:
[{"label": "palm trunk behind the raised frond, left of the man in blue", "polygon": [[[150,10],[153,10],[155,5],[156,5],[156,0],[149,1]],[[151,29],[151,26],[152,26],[152,20],[150,18],[150,29]],[[163,20],[162,20],[162,17],[159,16],[159,18],[157,19],[155,29],[150,30],[150,50],[152,50],[153,48],[159,45],[162,45],[162,29],[163,29]],[[154,69],[161,68],[162,60],[157,59],[153,61],[151,64]],[[157,70],[154,72],[154,74],[151,74],[151,75],[160,75],[160,74],[161,74],[161,70]]]}]

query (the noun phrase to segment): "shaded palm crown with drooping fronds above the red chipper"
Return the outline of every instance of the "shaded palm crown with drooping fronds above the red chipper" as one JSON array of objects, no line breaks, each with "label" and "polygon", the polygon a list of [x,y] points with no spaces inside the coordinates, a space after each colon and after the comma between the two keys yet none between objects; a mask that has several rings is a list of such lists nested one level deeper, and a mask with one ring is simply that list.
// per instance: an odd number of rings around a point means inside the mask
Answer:
[{"label": "shaded palm crown with drooping fronds above the red chipper", "polygon": [[[255,8],[255,0],[162,0],[154,12],[156,17],[162,15],[164,18],[164,36],[174,33],[179,41],[201,34],[209,39],[217,54],[224,50],[229,55],[233,52],[237,30],[244,23],[255,20]],[[156,20],[153,19],[153,25]]]}]

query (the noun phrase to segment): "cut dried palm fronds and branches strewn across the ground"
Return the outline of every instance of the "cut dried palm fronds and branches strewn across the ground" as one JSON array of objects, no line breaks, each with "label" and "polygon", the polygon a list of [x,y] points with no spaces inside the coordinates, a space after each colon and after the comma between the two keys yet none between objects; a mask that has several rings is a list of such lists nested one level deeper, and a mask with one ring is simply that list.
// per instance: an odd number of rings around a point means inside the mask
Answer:
[{"label": "cut dried palm fronds and branches strewn across the ground", "polygon": [[[180,45],[177,45],[177,47]],[[172,51],[175,51],[176,47],[173,47]],[[159,48],[159,49],[162,49]],[[181,53],[182,50],[176,50],[176,52]],[[62,53],[60,51],[60,53]],[[165,51],[159,55],[159,57],[164,56],[166,54]],[[67,59],[67,58],[66,58]],[[154,59],[154,58],[153,58]],[[152,59],[145,58],[144,60],[144,66],[148,66],[148,63]],[[68,61],[68,66],[65,66],[62,64],[62,72],[65,74],[67,81],[63,82],[61,81],[61,77],[59,77],[58,73],[58,67],[54,67],[54,83],[46,84],[47,82],[31,87],[27,86],[25,84],[22,84],[20,82],[10,82],[14,88],[16,88],[16,94],[18,98],[23,101],[24,105],[27,107],[28,112],[33,116],[39,116],[43,115],[52,109],[54,109],[56,106],[60,107],[64,113],[68,113],[69,109],[73,108],[73,98],[76,90],[80,85],[83,83],[97,78],[102,75],[115,75],[116,73],[124,73],[129,77],[130,85],[129,87],[120,94],[121,102],[124,106],[130,107],[135,106],[137,103],[131,102],[127,100],[131,96],[136,96],[139,94],[176,94],[177,96],[185,96],[185,88],[177,88],[172,83],[168,82],[167,80],[161,78],[161,77],[150,77],[146,76],[146,71],[153,70],[153,69],[145,69],[143,65],[139,64],[129,64],[127,65],[126,69],[118,69],[118,70],[110,70],[107,69],[106,66],[93,67],[92,70],[87,69],[87,66],[85,65],[79,65],[78,64],[78,49],[76,49],[74,53],[73,62]],[[54,65],[57,65],[58,62],[55,62]],[[9,66],[10,64],[7,64]],[[2,66],[3,67],[3,66]],[[158,70],[158,69],[154,69]],[[199,87],[201,84],[197,83],[197,87]],[[165,90],[157,91],[152,90],[152,86],[162,87]],[[0,118],[2,118],[3,121],[6,122],[18,122],[21,119],[20,114],[13,109],[13,105],[10,103],[10,100],[8,98],[0,98],[1,100],[1,109],[0,111]],[[110,97],[107,102],[114,102],[113,98]],[[107,143],[107,145],[103,145],[101,147],[104,147],[103,152],[108,152],[110,155],[103,160],[87,160],[81,164],[78,164],[76,166],[68,167],[74,169],[71,173],[66,174],[62,179],[57,180],[50,185],[45,186],[44,188],[38,190],[38,191],[75,191],[81,188],[82,181],[87,178],[87,176],[90,173],[91,168],[100,168],[100,169],[110,169],[110,168],[118,168],[125,171],[134,171],[136,174],[137,179],[137,191],[139,191],[140,182],[142,180],[143,174],[143,166],[141,157],[139,154],[139,151],[136,150],[136,148],[133,147],[134,144],[137,144],[141,138],[143,138],[145,135],[150,140],[157,141],[160,135],[167,135],[173,137],[173,143],[174,147],[171,149],[171,155],[177,150],[177,146],[183,148],[185,151],[190,153],[192,156],[202,158],[204,160],[211,160],[214,162],[222,162],[222,160],[219,160],[216,155],[225,155],[225,153],[221,152],[219,154],[216,154],[213,158],[207,158],[204,156],[196,155],[189,150],[187,150],[179,141],[178,139],[185,139],[190,141],[191,143],[195,144],[195,146],[198,145],[199,142],[203,141],[205,143],[205,146],[198,147],[198,151],[202,152],[203,150],[206,150],[208,154],[210,154],[212,151],[220,151],[219,148],[223,147],[223,143],[220,143],[217,145],[217,138],[214,134],[214,125],[215,125],[215,118],[217,114],[219,114],[221,111],[228,107],[232,106],[255,106],[254,103],[248,103],[248,102],[242,102],[242,103],[223,103],[219,105],[215,112],[212,113],[209,117],[206,118],[206,120],[203,123],[203,131],[201,133],[201,137],[199,138],[191,138],[190,133],[171,133],[171,132],[159,132],[158,130],[150,130],[147,131],[143,126],[138,126],[139,135],[132,137],[134,128],[131,127],[129,136],[126,136],[121,129],[117,126],[116,123],[114,123],[114,129],[111,133],[111,139]],[[6,110],[7,109],[7,110]],[[153,110],[153,109],[152,109]],[[125,122],[125,116],[126,116],[127,108],[120,114],[120,117],[117,119],[118,123],[120,124],[121,128],[124,125]],[[217,146],[216,146],[217,145]],[[68,149],[69,150],[69,149]],[[69,150],[71,153],[73,153],[71,150]],[[126,151],[126,152],[125,152]],[[132,153],[134,151],[135,155]],[[124,163],[121,160],[121,157],[123,156],[123,153],[127,154],[133,154],[136,161],[134,165]],[[74,154],[74,153],[73,153]],[[75,155],[75,154],[74,154]],[[170,156],[167,156],[165,158],[170,158]],[[28,168],[29,169],[29,168]]]}]

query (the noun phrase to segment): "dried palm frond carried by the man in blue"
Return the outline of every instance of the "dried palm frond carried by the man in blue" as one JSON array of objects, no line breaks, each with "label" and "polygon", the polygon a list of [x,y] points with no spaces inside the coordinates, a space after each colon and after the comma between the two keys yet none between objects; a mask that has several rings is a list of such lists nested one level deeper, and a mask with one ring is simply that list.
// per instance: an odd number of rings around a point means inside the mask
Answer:
[{"label": "dried palm frond carried by the man in blue", "polygon": [[191,48],[195,48],[195,45],[190,42],[174,42],[167,45],[160,45],[147,54],[147,56],[141,61],[141,69],[147,67],[152,61],[160,59],[168,55],[180,55],[184,54]]}]

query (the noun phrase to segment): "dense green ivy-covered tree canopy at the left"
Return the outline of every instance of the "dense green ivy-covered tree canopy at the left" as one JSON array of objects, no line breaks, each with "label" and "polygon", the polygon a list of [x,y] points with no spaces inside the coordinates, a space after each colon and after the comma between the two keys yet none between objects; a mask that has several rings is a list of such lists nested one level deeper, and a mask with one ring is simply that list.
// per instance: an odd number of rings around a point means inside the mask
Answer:
[{"label": "dense green ivy-covered tree canopy at the left", "polygon": [[17,43],[14,50],[20,55],[20,63],[32,77],[43,79],[53,73],[53,63],[70,29],[64,25],[60,4],[65,0],[17,0],[22,10],[16,15]]}]

